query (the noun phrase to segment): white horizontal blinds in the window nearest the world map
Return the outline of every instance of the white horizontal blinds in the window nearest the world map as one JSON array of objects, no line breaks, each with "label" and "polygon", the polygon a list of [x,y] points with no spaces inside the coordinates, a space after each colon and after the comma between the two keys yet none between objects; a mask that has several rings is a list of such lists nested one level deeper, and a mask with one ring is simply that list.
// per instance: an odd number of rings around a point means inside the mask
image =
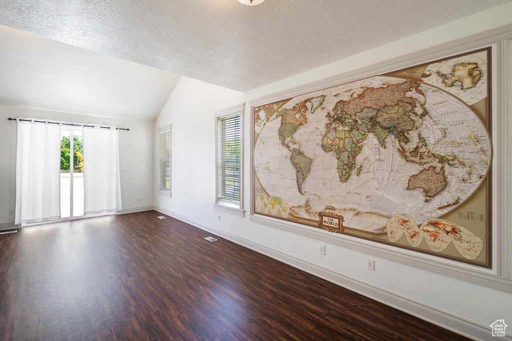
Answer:
[{"label": "white horizontal blinds in the window nearest the world map", "polygon": [[240,114],[217,121],[218,201],[240,204]]}]

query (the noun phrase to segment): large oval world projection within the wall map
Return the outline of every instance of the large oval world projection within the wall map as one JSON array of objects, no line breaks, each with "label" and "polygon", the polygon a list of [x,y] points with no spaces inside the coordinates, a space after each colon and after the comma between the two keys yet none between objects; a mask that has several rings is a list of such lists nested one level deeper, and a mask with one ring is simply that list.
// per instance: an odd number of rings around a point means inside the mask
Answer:
[{"label": "large oval world projection within the wall map", "polygon": [[470,107],[408,79],[318,90],[260,117],[254,169],[267,193],[308,219],[332,202],[355,229],[453,210],[479,188],[492,158],[488,131]]}]

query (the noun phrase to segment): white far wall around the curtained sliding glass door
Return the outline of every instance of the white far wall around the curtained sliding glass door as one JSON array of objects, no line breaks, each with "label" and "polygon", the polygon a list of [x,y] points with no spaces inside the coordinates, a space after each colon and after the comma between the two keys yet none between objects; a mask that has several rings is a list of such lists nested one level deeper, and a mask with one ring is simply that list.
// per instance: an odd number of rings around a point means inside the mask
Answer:
[{"label": "white far wall around the curtained sliding glass door", "polygon": [[16,197],[16,122],[8,121],[8,117],[130,128],[130,131],[119,131],[119,163],[121,169],[126,170],[121,173],[122,208],[124,210],[153,205],[154,123],[0,105],[0,224],[14,222],[14,216],[9,216],[9,210],[14,210]]}]

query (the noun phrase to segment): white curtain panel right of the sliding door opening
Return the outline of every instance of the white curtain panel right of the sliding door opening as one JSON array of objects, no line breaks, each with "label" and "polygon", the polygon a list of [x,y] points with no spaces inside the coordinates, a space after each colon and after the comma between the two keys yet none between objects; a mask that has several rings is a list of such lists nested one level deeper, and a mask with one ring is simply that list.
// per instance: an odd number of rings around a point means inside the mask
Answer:
[{"label": "white curtain panel right of the sliding door opening", "polygon": [[84,215],[121,210],[118,130],[83,127]]}]

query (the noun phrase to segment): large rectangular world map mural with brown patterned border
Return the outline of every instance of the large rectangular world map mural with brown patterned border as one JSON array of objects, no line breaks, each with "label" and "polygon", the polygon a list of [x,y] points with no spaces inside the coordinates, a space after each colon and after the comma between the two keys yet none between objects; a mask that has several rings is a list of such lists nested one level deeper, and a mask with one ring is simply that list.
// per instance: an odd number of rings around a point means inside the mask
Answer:
[{"label": "large rectangular world map mural with brown patterned border", "polygon": [[252,214],[492,268],[491,67],[485,47],[253,107]]}]

